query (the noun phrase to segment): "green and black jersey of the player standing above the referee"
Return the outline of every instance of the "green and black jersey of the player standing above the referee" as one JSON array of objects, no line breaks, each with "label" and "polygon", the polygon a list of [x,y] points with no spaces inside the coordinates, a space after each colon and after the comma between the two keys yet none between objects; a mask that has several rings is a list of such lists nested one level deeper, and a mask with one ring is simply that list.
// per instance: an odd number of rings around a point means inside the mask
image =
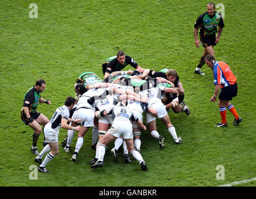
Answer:
[{"label": "green and black jersey of the player standing above the referee", "polygon": [[217,26],[224,27],[224,20],[219,12],[214,12],[214,16],[209,16],[207,12],[204,12],[194,24],[195,29],[200,29],[201,36],[215,35]]}]

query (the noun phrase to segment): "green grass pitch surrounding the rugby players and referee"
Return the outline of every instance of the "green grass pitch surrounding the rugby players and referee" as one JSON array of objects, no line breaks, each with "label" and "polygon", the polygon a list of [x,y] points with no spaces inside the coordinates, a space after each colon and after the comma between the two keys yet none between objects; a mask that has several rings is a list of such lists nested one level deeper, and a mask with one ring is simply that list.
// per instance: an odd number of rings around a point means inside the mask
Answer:
[{"label": "green grass pitch surrounding the rugby players and referee", "polygon": [[[29,5],[38,6],[38,18],[29,17]],[[256,177],[255,136],[255,1],[221,1],[225,6],[225,27],[214,47],[217,60],[229,63],[237,77],[238,95],[231,102],[244,122],[233,126],[227,111],[228,127],[214,127],[220,121],[211,69],[205,76],[194,74],[203,47],[194,45],[193,26],[206,12],[206,1],[0,1],[0,186],[142,186],[214,187]],[[218,9],[216,9],[218,10]],[[38,111],[51,118],[55,109],[74,96],[77,76],[93,71],[103,77],[103,61],[124,50],[143,68],[175,68],[185,89],[191,114],[169,113],[183,143],[177,146],[166,127],[158,121],[158,131],[166,147],[148,131],[141,136],[141,152],[148,165],[143,172],[135,159],[127,165],[113,162],[110,150],[105,166],[90,169],[95,156],[88,131],[77,163],[60,152],[47,165],[50,174],[29,178],[35,155],[31,154],[32,129],[20,119],[26,91],[43,78],[47,87]],[[132,69],[131,67],[126,67]],[[67,131],[60,130],[61,142]],[[43,136],[38,142],[42,150]],[[111,149],[113,143],[109,145]],[[120,149],[120,154],[121,154]],[[225,179],[217,180],[216,167],[223,165]],[[256,182],[237,186],[255,187]]]}]

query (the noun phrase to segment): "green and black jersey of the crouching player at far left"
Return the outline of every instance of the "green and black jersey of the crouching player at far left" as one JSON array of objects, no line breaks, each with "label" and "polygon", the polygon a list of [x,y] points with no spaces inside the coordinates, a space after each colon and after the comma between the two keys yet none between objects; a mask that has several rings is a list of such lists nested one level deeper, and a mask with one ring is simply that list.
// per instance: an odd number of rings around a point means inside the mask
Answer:
[{"label": "green and black jersey of the crouching player at far left", "polygon": [[35,112],[37,109],[37,106],[39,104],[40,99],[40,92],[36,90],[34,86],[32,86],[25,94],[24,96],[24,103],[23,106],[26,106],[29,108],[29,113]]}]

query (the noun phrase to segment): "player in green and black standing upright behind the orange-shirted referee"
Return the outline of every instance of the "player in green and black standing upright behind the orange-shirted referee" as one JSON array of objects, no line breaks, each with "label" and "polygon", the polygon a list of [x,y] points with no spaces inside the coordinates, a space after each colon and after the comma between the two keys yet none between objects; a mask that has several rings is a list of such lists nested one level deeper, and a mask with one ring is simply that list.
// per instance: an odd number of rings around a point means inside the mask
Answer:
[{"label": "player in green and black standing upright behind the orange-shirted referee", "polygon": [[[217,26],[219,26],[218,35],[216,37]],[[215,4],[213,2],[209,2],[207,4],[207,12],[201,14],[197,18],[196,23],[194,24],[194,38],[196,47],[199,48],[200,42],[197,37],[198,29],[200,29],[199,36],[202,46],[204,47],[204,53],[199,60],[199,64],[196,67],[195,73],[199,75],[204,75],[201,71],[202,66],[204,65],[204,58],[206,55],[214,56],[214,45],[219,42],[220,35],[222,33],[222,29],[224,27],[224,21],[219,12],[215,11]]]}]

